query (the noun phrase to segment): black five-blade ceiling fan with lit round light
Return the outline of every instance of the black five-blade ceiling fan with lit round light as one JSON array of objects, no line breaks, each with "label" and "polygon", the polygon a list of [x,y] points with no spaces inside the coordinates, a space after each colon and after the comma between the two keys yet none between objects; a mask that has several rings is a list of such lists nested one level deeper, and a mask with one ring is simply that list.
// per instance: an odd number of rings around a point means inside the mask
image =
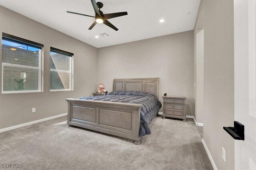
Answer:
[{"label": "black five-blade ceiling fan with lit round light", "polygon": [[103,7],[103,4],[101,2],[97,2],[95,0],[91,0],[92,2],[92,6],[94,8],[94,11],[95,11],[95,16],[90,16],[90,15],[85,15],[85,14],[79,14],[79,13],[76,13],[76,12],[70,12],[70,11],[67,11],[68,13],[71,13],[71,14],[77,14],[77,15],[82,15],[82,16],[89,16],[89,17],[93,17],[95,18],[95,21],[94,23],[92,23],[92,25],[90,26],[90,28],[88,30],[92,30],[92,28],[97,24],[105,24],[107,26],[109,26],[110,28],[114,29],[114,30],[118,30],[118,28],[116,28],[113,24],[111,24],[108,19],[110,18],[116,18],[116,17],[119,17],[119,16],[124,16],[124,15],[128,15],[127,12],[116,12],[116,13],[111,13],[111,14],[103,14],[103,12],[100,10],[100,8]]}]

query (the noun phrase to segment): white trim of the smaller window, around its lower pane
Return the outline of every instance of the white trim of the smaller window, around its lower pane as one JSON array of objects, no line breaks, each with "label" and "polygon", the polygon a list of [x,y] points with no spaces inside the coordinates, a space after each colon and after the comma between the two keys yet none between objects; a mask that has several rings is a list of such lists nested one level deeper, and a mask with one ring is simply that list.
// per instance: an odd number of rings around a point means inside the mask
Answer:
[{"label": "white trim of the smaller window, around its lower pane", "polygon": [[58,70],[58,69],[50,69],[50,71],[56,71],[61,73],[69,73],[69,89],[50,89],[50,92],[52,91],[73,91],[73,85],[74,85],[74,77],[73,77],[73,71],[74,71],[74,59],[73,56],[70,57],[70,67],[69,70]]}]

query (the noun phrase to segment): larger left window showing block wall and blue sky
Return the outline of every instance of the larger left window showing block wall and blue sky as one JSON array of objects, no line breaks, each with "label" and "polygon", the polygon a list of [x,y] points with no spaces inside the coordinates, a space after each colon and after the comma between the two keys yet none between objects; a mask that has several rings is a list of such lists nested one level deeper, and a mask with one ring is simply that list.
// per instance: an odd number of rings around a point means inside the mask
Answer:
[{"label": "larger left window showing block wall and blue sky", "polygon": [[2,34],[2,93],[42,92],[43,44]]}]

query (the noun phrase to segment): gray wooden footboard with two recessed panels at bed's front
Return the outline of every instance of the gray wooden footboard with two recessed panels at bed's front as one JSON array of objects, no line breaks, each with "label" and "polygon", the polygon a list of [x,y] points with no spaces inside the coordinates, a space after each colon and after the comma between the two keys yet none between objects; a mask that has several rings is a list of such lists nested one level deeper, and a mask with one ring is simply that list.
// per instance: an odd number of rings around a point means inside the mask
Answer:
[{"label": "gray wooden footboard with two recessed panels at bed's front", "polygon": [[140,107],[138,104],[66,99],[68,125],[96,130],[140,144]]}]

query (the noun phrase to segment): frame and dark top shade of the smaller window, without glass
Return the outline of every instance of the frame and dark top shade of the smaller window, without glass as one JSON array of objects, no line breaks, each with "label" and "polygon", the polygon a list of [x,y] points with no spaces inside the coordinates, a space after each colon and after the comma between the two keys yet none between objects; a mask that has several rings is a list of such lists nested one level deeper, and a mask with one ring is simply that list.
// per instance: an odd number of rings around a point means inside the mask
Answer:
[{"label": "frame and dark top shade of the smaller window, without glass", "polygon": [[[50,92],[54,92],[54,91],[73,91],[74,90],[74,53],[70,53],[68,51],[64,51],[62,49],[57,49],[57,48],[54,48],[54,47],[50,47],[50,52],[59,53],[59,54],[67,55],[67,56],[70,57],[70,68],[69,68],[70,71],[59,70],[59,69],[51,69],[50,68],[50,73],[51,73],[51,71],[55,71],[57,73],[58,72],[60,72],[60,73],[69,73],[69,89],[51,89],[51,87],[50,87]],[[50,84],[51,84],[51,80],[50,80]]]}]

